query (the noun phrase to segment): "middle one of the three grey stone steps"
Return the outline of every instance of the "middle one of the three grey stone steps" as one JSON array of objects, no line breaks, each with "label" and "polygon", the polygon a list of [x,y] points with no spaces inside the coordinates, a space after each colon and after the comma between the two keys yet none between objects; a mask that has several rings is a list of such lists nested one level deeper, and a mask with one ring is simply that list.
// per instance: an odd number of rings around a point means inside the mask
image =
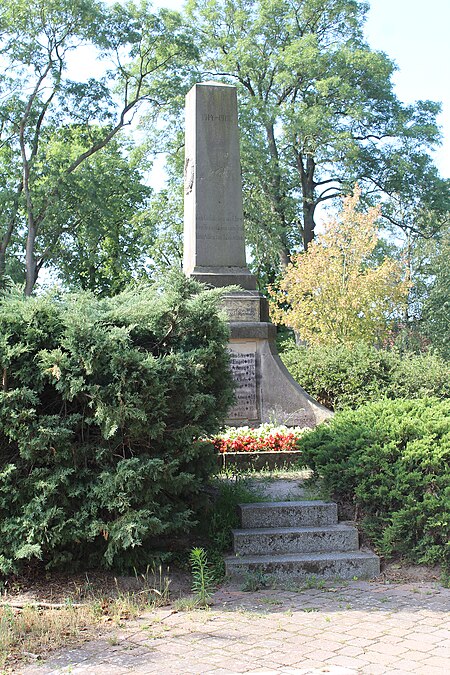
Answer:
[{"label": "middle one of the three grey stone steps", "polygon": [[356,551],[358,530],[349,525],[234,530],[236,555]]}]

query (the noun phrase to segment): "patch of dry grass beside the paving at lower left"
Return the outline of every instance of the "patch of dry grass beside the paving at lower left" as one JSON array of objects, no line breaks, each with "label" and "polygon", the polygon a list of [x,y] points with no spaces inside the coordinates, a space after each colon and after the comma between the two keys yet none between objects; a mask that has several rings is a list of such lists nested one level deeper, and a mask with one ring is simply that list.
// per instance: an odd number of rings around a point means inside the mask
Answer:
[{"label": "patch of dry grass beside the paving at lower left", "polygon": [[[131,590],[117,579],[113,587],[87,582],[75,585],[65,602],[55,606],[26,595],[3,597],[0,605],[0,675],[21,662],[37,659],[55,649],[80,644],[134,619],[142,612],[169,602],[169,578],[161,570],[136,577]],[[156,583],[155,583],[156,582]],[[69,588],[69,587],[68,587]],[[19,600],[18,600],[19,598]],[[9,602],[9,604],[8,604]],[[14,606],[16,605],[16,606]]]}]

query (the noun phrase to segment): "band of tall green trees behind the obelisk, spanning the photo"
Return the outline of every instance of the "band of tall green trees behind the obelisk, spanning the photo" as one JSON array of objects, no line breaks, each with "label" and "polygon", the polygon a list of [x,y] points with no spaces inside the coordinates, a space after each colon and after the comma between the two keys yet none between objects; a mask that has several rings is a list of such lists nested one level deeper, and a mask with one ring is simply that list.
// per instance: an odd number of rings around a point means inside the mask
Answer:
[{"label": "band of tall green trees behind the obelisk, spanning the photo", "polygon": [[[356,0],[190,0],[182,13],[5,0],[0,276],[30,295],[47,269],[65,286],[111,295],[178,265],[184,95],[213,77],[238,89],[261,289],[278,286],[321,209],[358,183],[362,204],[381,206],[372,259],[389,254],[409,269],[403,323],[421,321],[445,342],[450,191],[430,155],[440,108],[396,97],[394,64],[364,39],[366,12]],[[86,47],[104,68],[81,79]],[[132,122],[141,133],[124,133]],[[168,181],[155,193],[146,172],[160,152]]]}]

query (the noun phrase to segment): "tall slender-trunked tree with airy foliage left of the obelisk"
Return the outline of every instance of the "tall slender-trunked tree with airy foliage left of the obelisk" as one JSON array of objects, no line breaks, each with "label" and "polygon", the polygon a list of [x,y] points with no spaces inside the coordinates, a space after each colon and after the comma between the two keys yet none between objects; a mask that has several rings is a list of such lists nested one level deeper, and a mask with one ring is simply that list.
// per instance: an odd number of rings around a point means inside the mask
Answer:
[{"label": "tall slender-trunked tree with airy foliage left of the obelisk", "polygon": [[[76,50],[108,60],[102,77],[70,79]],[[192,42],[177,13],[151,13],[148,3],[107,7],[96,0],[4,0],[0,7],[0,276],[13,237],[25,243],[25,294],[45,264],[38,246],[58,209],[68,176],[108,143],[146,102],[157,110],[182,78]],[[84,144],[59,162],[46,156],[49,129],[77,125]],[[43,176],[47,180],[43,180]],[[42,186],[45,184],[45,191]],[[61,232],[55,231],[57,239]]]}]

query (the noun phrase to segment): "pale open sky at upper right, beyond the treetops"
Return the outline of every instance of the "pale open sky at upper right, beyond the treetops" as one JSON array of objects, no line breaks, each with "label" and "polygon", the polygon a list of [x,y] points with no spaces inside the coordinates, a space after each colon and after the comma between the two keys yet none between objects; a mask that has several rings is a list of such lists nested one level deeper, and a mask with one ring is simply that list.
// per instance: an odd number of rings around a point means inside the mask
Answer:
[{"label": "pale open sky at upper right, beyond the treetops", "polygon": [[[153,0],[180,10],[180,0]],[[395,92],[404,103],[430,99],[443,105],[443,146],[435,161],[450,178],[450,0],[369,0],[366,37],[397,65]]]}]

